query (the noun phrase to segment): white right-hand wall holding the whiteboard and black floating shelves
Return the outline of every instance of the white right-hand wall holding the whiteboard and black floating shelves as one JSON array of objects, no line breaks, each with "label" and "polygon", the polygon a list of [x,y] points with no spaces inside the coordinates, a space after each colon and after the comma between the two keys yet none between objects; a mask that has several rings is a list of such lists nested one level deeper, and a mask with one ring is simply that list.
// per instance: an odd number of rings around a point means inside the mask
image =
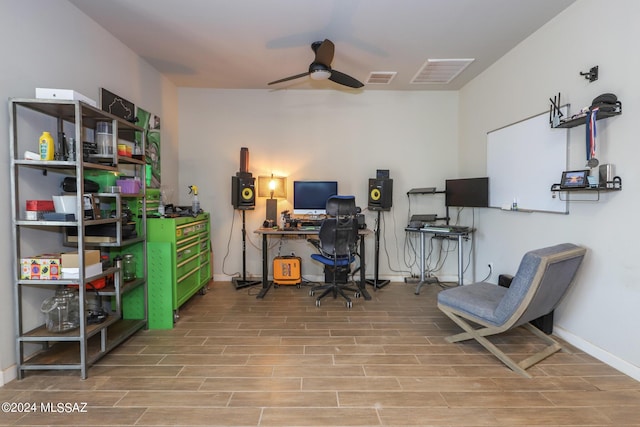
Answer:
[{"label": "white right-hand wall holding the whiteboard and black floating shelves", "polygon": [[[596,157],[615,165],[623,190],[602,194],[598,202],[571,202],[569,215],[483,210],[487,232],[476,241],[477,262],[493,262],[496,273],[513,273],[528,249],[564,241],[586,246],[589,252],[578,280],[556,311],[555,332],[640,379],[635,333],[640,323],[639,236],[634,225],[640,208],[640,57],[633,47],[640,38],[638,16],[640,3],[635,0],[580,0],[463,88],[460,170],[484,173],[486,133],[548,111],[549,97],[558,92],[571,104],[571,114],[602,93],[618,96],[623,114],[597,123]],[[589,83],[579,72],[595,65],[600,78]],[[585,128],[580,126],[570,132],[569,168],[585,163]]]}]

